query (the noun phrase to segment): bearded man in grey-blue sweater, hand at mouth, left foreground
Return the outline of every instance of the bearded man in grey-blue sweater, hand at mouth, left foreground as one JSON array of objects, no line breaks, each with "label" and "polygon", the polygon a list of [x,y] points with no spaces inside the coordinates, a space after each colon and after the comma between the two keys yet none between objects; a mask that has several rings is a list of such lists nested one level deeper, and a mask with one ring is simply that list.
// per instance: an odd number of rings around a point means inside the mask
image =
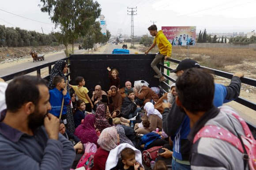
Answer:
[{"label": "bearded man in grey-blue sweater, hand at mouth, left foreground", "polygon": [[[70,141],[59,133],[45,80],[20,76],[5,92],[0,119],[0,167],[3,170],[69,170],[75,158]],[[44,125],[44,126],[43,126]]]}]

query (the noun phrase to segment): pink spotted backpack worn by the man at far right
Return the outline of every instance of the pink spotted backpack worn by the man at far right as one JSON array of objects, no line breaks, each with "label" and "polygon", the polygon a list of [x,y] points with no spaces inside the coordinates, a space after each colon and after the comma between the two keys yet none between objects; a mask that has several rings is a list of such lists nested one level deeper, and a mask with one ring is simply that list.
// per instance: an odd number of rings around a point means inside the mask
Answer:
[{"label": "pink spotted backpack worn by the man at far right", "polygon": [[[214,125],[208,125],[204,126],[202,129],[198,131],[198,133],[196,133],[196,136],[194,137],[193,140],[193,144],[201,137],[212,137],[220,140],[225,140],[226,142],[229,142],[234,147],[236,147],[241,153],[243,153],[245,167],[248,162],[249,169],[256,170],[256,140],[253,138],[252,132],[250,131],[248,125],[246,124],[245,120],[242,119],[239,115],[237,115],[237,113],[233,111],[231,108],[221,107],[220,110],[226,113],[230,113],[235,118],[237,118],[237,120],[241,123],[241,126],[244,129],[245,136],[240,137],[236,129],[234,130],[237,133],[238,137],[236,137],[235,135],[233,135],[233,133],[230,133],[226,129]],[[229,117],[228,114],[227,116]]]}]

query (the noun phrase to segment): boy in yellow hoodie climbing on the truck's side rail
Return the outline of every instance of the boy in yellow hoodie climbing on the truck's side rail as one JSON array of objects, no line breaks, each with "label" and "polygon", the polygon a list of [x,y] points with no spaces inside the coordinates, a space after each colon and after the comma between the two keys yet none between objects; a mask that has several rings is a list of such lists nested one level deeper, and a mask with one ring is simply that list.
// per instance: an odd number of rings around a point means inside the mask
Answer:
[{"label": "boy in yellow hoodie climbing on the truck's side rail", "polygon": [[[145,55],[154,48],[154,46],[157,44],[159,48],[159,52],[157,55],[155,55],[155,59],[151,63],[151,67],[154,69],[154,71],[158,74],[154,76],[154,78],[159,78],[159,81],[166,81],[166,78],[162,75],[161,71],[156,67],[157,63],[162,61],[162,58],[164,57],[165,60],[167,57],[171,56],[172,53],[172,44],[167,40],[166,36],[163,34],[162,30],[157,31],[157,26],[152,25],[148,27],[150,34],[154,37],[154,43],[151,45],[151,47],[145,52]],[[162,63],[162,62],[161,62]],[[163,63],[162,63],[163,64]]]}]

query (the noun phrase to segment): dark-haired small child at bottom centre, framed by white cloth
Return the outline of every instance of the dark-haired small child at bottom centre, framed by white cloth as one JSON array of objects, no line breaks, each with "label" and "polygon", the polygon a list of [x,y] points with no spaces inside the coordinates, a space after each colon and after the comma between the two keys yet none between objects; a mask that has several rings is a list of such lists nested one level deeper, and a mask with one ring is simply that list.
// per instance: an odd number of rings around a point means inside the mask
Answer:
[{"label": "dark-haired small child at bottom centre, framed by white cloth", "polygon": [[144,168],[136,162],[135,151],[132,148],[124,148],[121,152],[121,159],[118,161],[117,170],[144,170]]}]

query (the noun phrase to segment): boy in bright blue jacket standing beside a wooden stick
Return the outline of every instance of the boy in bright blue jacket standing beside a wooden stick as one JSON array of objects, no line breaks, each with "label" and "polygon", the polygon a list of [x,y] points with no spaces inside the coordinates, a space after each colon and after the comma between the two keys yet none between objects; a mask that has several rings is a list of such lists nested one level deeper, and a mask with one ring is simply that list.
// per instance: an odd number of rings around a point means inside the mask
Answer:
[{"label": "boy in bright blue jacket standing beside a wooden stick", "polygon": [[60,117],[60,110],[62,105],[62,100],[64,98],[64,105],[61,114],[61,120],[63,120],[64,124],[67,124],[67,105],[71,103],[70,96],[65,89],[66,82],[63,77],[56,76],[53,78],[54,89],[50,90],[50,100],[52,109],[49,113],[53,114],[56,117]]}]

